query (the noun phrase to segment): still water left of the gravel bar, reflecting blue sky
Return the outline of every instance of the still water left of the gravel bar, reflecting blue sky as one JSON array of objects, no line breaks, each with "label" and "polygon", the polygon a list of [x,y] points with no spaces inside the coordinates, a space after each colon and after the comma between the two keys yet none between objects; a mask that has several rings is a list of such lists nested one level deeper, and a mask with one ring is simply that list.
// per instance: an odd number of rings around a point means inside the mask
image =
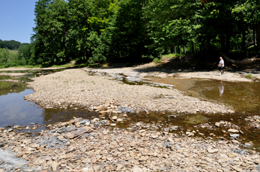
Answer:
[{"label": "still water left of the gravel bar, reflecting blue sky", "polygon": [[[33,93],[26,82],[32,82],[32,77],[55,73],[60,70],[26,70],[8,71],[4,73],[25,73],[18,77],[0,75],[0,127],[30,126],[53,124],[71,120],[72,117],[98,117],[96,113],[87,113],[82,109],[44,109],[33,102],[24,100],[24,95]],[[12,79],[18,82],[3,81]],[[43,129],[43,128],[40,128]],[[35,130],[37,132],[39,130]]]}]

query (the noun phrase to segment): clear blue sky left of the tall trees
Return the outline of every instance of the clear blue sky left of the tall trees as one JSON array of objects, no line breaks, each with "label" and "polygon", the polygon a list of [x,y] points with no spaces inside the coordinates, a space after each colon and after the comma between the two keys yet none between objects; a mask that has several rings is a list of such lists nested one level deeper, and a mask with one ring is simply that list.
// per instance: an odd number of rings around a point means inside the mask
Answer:
[{"label": "clear blue sky left of the tall trees", "polygon": [[0,39],[30,43],[37,0],[0,0]]}]

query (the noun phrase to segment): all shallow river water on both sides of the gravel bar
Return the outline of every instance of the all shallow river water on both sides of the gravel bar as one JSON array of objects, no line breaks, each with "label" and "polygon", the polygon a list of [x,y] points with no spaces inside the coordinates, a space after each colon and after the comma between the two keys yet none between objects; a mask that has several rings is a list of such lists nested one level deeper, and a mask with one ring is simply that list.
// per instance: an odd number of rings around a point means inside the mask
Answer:
[{"label": "all shallow river water on both sides of the gravel bar", "polygon": [[[15,73],[26,73],[21,77],[0,76],[0,127],[6,126],[28,126],[53,124],[71,120],[72,117],[83,117],[91,119],[98,117],[98,113],[89,112],[85,109],[44,109],[33,102],[24,100],[24,95],[33,93],[31,88],[26,86],[26,82],[31,82],[31,78],[39,75],[54,73],[59,70],[35,70],[35,71],[15,71]],[[12,72],[14,73],[14,72]],[[1,82],[3,79],[13,79],[19,82]],[[123,78],[125,79],[125,78]],[[176,79],[149,77],[151,82],[172,85],[177,90],[183,90],[189,95],[202,100],[217,102],[231,106],[236,110],[232,115],[202,114],[185,115],[173,113],[131,113],[128,114],[128,121],[118,124],[119,127],[127,127],[132,122],[154,122],[162,126],[169,124],[182,126],[182,131],[192,131],[198,124],[220,122],[221,120],[232,122],[241,127],[244,135],[241,136],[243,142],[254,142],[255,146],[260,146],[259,131],[248,128],[245,117],[259,115],[260,110],[260,82],[224,82],[209,79]],[[128,82],[131,84],[131,82]],[[138,84],[138,83],[134,83]],[[140,82],[144,84],[144,82]],[[147,83],[145,83],[147,84]],[[44,129],[40,127],[39,129]],[[31,131],[37,133],[38,130]],[[223,128],[214,131],[217,137],[227,137],[222,132]],[[180,131],[176,131],[180,132]],[[200,133],[209,135],[207,128],[200,128]]]}]

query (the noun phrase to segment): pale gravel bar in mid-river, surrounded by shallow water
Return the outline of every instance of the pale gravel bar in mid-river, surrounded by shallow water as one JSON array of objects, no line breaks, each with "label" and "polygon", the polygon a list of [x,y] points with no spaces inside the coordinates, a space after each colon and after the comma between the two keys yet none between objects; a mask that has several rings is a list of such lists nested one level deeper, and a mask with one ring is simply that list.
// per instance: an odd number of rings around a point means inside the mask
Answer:
[{"label": "pale gravel bar in mid-river, surrounded by shallow water", "polygon": [[[136,77],[139,79],[138,77]],[[113,104],[139,111],[170,111],[173,113],[233,113],[229,107],[201,101],[173,88],[129,85],[106,76],[92,75],[82,69],[63,70],[33,78],[28,83],[35,93],[24,98],[44,108],[94,106]]]}]

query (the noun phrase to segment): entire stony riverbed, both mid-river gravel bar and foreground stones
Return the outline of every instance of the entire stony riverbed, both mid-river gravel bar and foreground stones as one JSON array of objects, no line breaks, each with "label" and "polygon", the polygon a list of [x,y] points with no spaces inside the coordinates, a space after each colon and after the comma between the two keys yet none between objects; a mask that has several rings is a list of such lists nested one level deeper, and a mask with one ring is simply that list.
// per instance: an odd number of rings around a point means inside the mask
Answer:
[{"label": "entire stony riverbed, both mid-river gravel bar and foreground stones", "polygon": [[[99,118],[50,124],[36,136],[17,131],[34,132],[41,127],[37,124],[0,128],[0,157],[6,157],[0,158],[0,172],[260,171],[259,152],[252,142],[243,140],[244,128],[232,120],[194,124],[188,130],[159,121],[128,123],[127,113],[140,111],[173,117],[234,113],[223,104],[202,101],[173,86],[152,84],[145,78],[152,74],[168,76],[132,68],[84,68],[33,78],[28,84],[35,93],[25,99],[44,108],[87,108],[99,113]],[[245,121],[254,130],[259,128],[258,116]],[[119,128],[123,122],[130,125]],[[224,137],[218,137],[217,129]]]}]

